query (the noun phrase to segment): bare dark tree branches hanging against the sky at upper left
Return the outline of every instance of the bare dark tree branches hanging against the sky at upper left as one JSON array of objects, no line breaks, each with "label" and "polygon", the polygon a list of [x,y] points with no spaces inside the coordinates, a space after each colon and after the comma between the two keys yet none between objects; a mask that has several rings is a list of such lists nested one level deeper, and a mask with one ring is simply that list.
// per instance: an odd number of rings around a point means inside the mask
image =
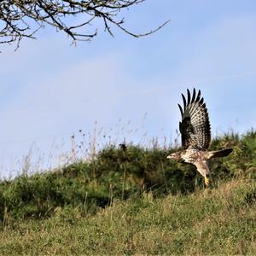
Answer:
[{"label": "bare dark tree branches hanging against the sky at upper left", "polygon": [[147,36],[160,30],[169,20],[150,32],[137,34],[124,27],[124,19],[118,19],[121,9],[129,9],[144,1],[146,0],[0,0],[0,44],[16,43],[18,48],[22,38],[35,38],[35,33],[46,25],[67,33],[73,43],[90,41],[96,37],[97,29],[91,32],[90,28],[90,32],[85,32],[84,27],[92,26],[96,19],[103,21],[105,31],[111,36],[111,24],[132,37]]}]

